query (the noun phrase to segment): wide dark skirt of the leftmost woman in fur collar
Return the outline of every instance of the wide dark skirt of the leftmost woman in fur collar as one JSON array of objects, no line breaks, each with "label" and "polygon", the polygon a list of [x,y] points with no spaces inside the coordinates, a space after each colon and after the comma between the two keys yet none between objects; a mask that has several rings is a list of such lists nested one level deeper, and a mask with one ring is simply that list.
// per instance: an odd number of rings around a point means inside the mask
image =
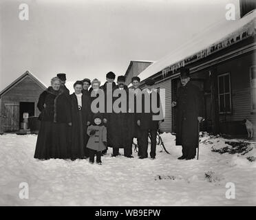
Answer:
[{"label": "wide dark skirt of the leftmost woman in fur collar", "polygon": [[70,134],[65,123],[41,122],[36,141],[34,158],[67,159],[70,158]]}]

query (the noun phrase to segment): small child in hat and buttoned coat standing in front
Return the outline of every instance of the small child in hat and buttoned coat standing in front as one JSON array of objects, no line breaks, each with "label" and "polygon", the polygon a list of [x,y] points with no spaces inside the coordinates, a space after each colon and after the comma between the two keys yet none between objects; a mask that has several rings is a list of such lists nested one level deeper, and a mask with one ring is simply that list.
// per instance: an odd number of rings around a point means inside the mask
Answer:
[{"label": "small child in hat and buttoned coat standing in front", "polygon": [[104,151],[107,146],[107,128],[103,125],[103,116],[100,113],[94,115],[92,125],[87,128],[87,134],[89,135],[87,143],[89,162],[94,164],[96,154],[96,163],[101,165],[101,151]]}]

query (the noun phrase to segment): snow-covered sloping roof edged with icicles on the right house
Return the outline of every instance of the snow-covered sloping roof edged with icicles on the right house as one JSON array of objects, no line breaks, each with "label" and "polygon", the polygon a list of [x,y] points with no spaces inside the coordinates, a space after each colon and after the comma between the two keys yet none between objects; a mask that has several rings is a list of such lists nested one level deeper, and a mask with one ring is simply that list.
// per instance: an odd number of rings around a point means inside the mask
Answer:
[{"label": "snow-covered sloping roof edged with icicles on the right house", "polygon": [[154,74],[162,71],[167,72],[177,70],[186,65],[186,62],[192,63],[195,60],[209,56],[224,47],[233,45],[246,36],[255,34],[256,28],[256,10],[253,10],[245,17],[235,21],[217,23],[204,33],[198,34],[195,38],[189,40],[184,45],[176,48],[171,54],[164,56],[159,61],[154,62],[139,74],[140,80],[145,80]]}]

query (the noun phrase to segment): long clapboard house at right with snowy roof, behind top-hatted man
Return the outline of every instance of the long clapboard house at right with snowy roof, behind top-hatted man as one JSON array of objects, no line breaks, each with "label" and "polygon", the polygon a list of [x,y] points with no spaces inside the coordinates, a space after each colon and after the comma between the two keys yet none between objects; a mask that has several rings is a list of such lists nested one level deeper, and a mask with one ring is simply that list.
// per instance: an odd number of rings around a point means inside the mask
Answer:
[{"label": "long clapboard house at right with snowy roof, behind top-hatted man", "polygon": [[165,89],[162,131],[175,133],[171,102],[180,87],[180,67],[190,69],[191,81],[204,94],[202,130],[245,135],[242,120],[256,124],[256,10],[249,10],[228,25],[217,23],[138,75],[142,88],[145,79],[153,78],[155,88]]}]

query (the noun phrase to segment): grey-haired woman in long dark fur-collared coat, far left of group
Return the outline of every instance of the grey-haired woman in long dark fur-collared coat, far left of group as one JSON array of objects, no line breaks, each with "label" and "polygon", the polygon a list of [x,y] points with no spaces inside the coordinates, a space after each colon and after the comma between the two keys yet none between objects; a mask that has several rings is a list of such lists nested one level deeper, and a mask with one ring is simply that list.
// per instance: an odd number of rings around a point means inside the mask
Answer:
[{"label": "grey-haired woman in long dark fur-collared coat, far left of group", "polygon": [[36,142],[34,158],[67,159],[68,148],[68,126],[71,125],[70,104],[67,96],[61,88],[61,81],[54,77],[52,86],[47,88],[39,96],[37,107],[41,114],[41,127]]}]

